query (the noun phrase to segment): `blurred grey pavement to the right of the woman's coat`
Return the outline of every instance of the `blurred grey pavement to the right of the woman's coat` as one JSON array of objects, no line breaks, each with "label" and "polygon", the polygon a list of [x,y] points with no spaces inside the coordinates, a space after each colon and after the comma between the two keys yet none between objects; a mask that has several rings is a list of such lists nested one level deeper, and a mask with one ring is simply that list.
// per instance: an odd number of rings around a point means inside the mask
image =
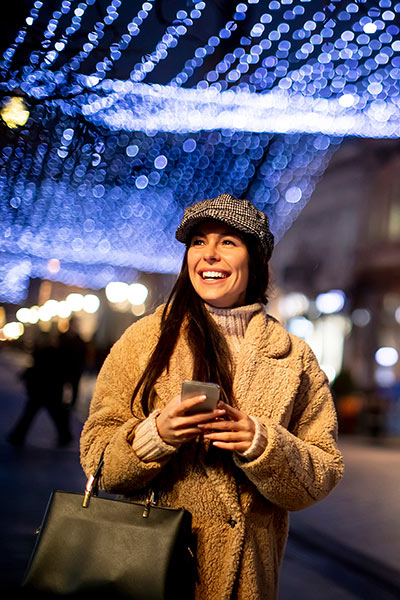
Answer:
[{"label": "blurred grey pavement to the right of the woman's coat", "polygon": [[281,600],[299,589],[307,600],[400,598],[400,448],[361,439],[341,439],[340,448],[342,481],[291,514]]}]

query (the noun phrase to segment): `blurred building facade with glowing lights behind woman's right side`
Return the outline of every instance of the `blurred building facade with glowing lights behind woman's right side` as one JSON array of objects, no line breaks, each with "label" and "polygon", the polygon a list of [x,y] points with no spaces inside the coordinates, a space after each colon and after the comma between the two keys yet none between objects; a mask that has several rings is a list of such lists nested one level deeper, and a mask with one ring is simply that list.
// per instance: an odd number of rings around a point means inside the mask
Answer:
[{"label": "blurred building facade with glowing lights behind woman's right side", "polygon": [[[349,389],[367,394],[376,388],[387,391],[398,419],[398,140],[352,139],[341,146],[310,202],[278,244],[273,274],[278,313],[279,298],[295,293],[309,301],[303,311],[280,315],[289,328],[291,318],[311,323],[309,334],[303,337],[309,338],[322,363],[329,349],[331,353],[339,352],[339,364],[329,372],[330,379],[345,373]],[[334,314],[321,314],[315,300],[330,290],[343,292],[343,307]],[[319,344],[322,330],[325,339]],[[392,358],[385,359],[384,355],[378,361],[380,348],[390,349],[385,352],[391,352]],[[400,433],[396,423],[389,424],[389,428]]]}]

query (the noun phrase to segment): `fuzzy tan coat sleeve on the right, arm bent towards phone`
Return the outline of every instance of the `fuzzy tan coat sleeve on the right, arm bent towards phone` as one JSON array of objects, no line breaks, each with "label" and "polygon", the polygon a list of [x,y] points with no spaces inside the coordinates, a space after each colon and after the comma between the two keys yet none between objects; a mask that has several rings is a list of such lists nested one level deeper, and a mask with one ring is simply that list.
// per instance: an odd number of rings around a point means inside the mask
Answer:
[{"label": "fuzzy tan coat sleeve on the right, arm bent towards phone", "polygon": [[267,446],[255,460],[235,457],[259,492],[285,510],[300,510],[325,498],[340,480],[337,419],[326,376],[307,346],[288,429],[264,423]]}]

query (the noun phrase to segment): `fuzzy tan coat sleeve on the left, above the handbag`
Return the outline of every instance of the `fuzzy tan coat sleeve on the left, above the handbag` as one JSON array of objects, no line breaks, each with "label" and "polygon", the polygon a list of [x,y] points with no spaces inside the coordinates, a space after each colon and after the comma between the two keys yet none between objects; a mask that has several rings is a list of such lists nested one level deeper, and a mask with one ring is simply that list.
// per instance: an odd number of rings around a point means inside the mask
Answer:
[{"label": "fuzzy tan coat sleeve on the left, above the handbag", "polygon": [[131,444],[135,428],[144,420],[140,406],[134,407],[137,416],[133,416],[130,406],[143,355],[146,359],[148,356],[141,345],[141,340],[146,339],[141,329],[132,326],[111,349],[99,373],[81,436],[81,464],[85,473],[89,476],[94,472],[105,451],[100,486],[113,493],[129,494],[146,487],[169,458],[143,462]]}]

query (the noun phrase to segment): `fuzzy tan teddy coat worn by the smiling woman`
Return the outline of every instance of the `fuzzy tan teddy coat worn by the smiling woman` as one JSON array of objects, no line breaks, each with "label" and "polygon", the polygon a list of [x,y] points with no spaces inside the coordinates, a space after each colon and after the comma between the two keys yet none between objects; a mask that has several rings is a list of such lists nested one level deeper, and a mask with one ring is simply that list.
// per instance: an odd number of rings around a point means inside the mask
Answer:
[{"label": "fuzzy tan teddy coat worn by the smiling woman", "polygon": [[[240,349],[234,403],[265,425],[265,451],[247,462],[203,440],[184,444],[161,461],[143,462],[127,441],[140,423],[130,401],[157,342],[161,310],[133,324],[111,349],[82,433],[82,466],[92,473],[107,446],[102,488],[133,497],[142,497],[143,488],[160,475],[160,504],[192,513],[196,600],[272,600],[288,533],[287,511],[325,498],[342,474],[326,377],[307,344],[261,311],[251,319]],[[155,386],[156,408],[180,393],[192,370],[182,335],[168,373]],[[135,414],[141,414],[139,403]]]}]

